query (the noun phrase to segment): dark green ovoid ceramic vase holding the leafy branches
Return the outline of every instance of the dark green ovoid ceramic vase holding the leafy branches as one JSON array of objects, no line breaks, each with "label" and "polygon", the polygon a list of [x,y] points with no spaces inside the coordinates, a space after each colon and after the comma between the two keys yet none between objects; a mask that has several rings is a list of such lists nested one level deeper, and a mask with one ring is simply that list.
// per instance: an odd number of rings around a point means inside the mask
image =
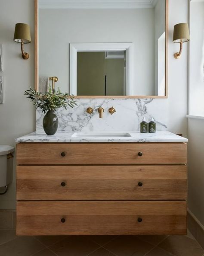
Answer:
[{"label": "dark green ovoid ceramic vase holding the leafy branches", "polygon": [[47,135],[53,135],[58,128],[58,118],[54,110],[48,110],[43,117],[43,129]]}]

